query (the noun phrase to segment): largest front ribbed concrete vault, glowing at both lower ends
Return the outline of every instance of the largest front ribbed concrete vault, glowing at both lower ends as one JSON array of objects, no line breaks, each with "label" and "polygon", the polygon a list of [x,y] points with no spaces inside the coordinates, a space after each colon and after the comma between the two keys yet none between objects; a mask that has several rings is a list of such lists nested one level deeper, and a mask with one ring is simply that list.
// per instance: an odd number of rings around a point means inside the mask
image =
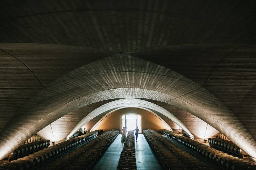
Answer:
[{"label": "largest front ribbed concrete vault, glowing at both lower ends", "polygon": [[[75,69],[38,92],[2,131],[5,139],[0,139],[0,150],[4,151],[0,159],[63,115],[114,98],[154,99],[177,106],[199,117],[256,157],[256,144],[251,135],[214,95],[168,68],[123,54]],[[12,127],[17,130],[10,130]],[[10,143],[3,142],[6,140]]]}]

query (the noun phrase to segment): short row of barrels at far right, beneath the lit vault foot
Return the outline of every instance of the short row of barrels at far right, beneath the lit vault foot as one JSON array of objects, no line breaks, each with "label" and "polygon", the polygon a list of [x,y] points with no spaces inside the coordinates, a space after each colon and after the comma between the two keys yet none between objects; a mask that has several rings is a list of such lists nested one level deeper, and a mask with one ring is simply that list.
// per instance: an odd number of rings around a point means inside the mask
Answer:
[{"label": "short row of barrels at far right, beneath the lit vault foot", "polygon": [[227,141],[225,139],[220,139],[220,138],[209,138],[208,142],[210,145],[217,146],[229,152],[233,152],[234,154],[243,155],[243,156],[246,155],[246,153],[240,147],[238,147],[236,144],[234,144],[231,141]]}]

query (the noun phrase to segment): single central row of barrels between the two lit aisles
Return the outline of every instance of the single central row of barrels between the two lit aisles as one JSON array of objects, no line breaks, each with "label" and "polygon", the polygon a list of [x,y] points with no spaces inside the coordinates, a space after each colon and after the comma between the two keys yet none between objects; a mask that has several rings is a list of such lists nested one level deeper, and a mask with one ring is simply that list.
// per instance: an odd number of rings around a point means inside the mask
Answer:
[{"label": "single central row of barrels between the two lit aisles", "polygon": [[133,131],[128,131],[117,169],[137,169]]}]

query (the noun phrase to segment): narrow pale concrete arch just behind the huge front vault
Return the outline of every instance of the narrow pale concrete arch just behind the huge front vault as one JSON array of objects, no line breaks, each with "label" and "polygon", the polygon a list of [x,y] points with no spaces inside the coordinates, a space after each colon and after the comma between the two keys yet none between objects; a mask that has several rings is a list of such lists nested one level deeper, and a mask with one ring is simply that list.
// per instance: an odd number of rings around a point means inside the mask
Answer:
[{"label": "narrow pale concrete arch just behind the huge front vault", "polygon": [[[119,110],[120,108],[124,108],[124,107],[140,107],[140,108],[150,110],[150,112],[153,112],[153,114],[154,114],[154,112],[160,112],[161,114],[165,115],[166,117],[168,117],[169,119],[174,121],[176,124],[178,124],[191,137],[193,137],[192,133],[187,129],[187,127],[185,127],[185,125],[183,125],[183,123],[177,117],[175,117],[172,113],[170,113],[168,110],[165,110],[164,108],[162,108],[154,103],[145,101],[145,100],[140,100],[140,99],[135,99],[135,98],[125,98],[125,99],[119,99],[119,100],[109,102],[109,103],[104,104],[104,105],[100,106],[99,108],[93,110],[91,113],[89,113],[87,116],[85,116],[74,127],[74,129],[69,133],[67,138],[70,138],[80,127],[85,125],[87,122],[89,122],[94,117],[98,116],[99,114],[106,112],[106,111],[112,112],[114,110]],[[110,113],[108,113],[106,115],[109,115],[109,114]],[[157,115],[157,114],[154,114],[154,115]],[[160,118],[158,115],[157,115],[157,117]]]}]

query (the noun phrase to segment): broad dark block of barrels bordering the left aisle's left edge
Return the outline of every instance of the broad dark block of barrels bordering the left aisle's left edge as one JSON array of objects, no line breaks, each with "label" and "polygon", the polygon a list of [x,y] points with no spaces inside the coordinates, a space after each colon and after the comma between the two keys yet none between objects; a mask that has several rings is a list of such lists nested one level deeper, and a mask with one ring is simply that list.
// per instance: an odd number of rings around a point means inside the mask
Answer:
[{"label": "broad dark block of barrels bordering the left aisle's left edge", "polygon": [[119,131],[107,131],[48,165],[47,170],[92,169]]}]

